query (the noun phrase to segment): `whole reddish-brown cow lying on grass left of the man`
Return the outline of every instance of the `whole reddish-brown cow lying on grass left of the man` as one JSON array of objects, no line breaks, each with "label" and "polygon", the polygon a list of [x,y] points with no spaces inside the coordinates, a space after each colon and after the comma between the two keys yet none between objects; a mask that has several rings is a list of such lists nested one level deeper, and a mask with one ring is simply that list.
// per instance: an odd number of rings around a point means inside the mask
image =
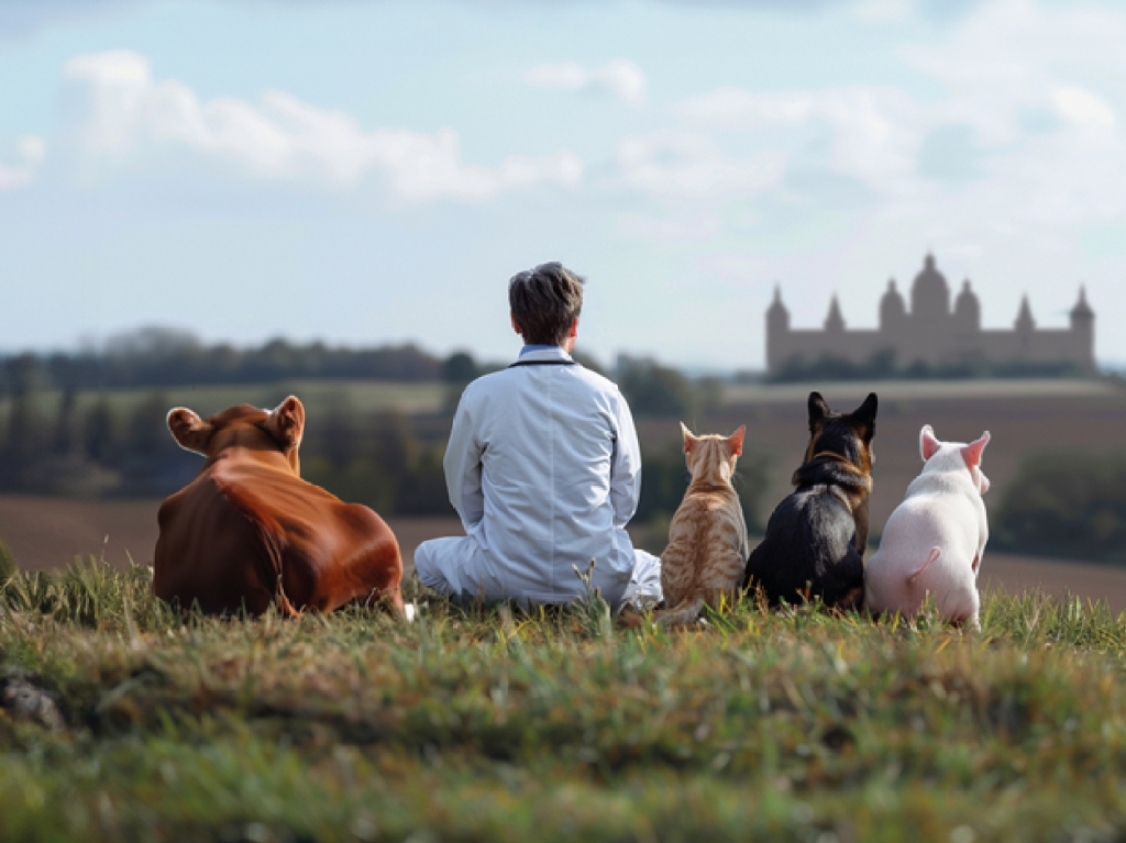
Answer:
[{"label": "whole reddish-brown cow lying on grass left of the man", "polygon": [[403,611],[399,542],[367,506],[301,478],[305,409],[289,396],[271,413],[242,404],[207,421],[178,407],[168,427],[207,458],[160,508],[153,590],[212,615],[329,612],[386,598]]}]

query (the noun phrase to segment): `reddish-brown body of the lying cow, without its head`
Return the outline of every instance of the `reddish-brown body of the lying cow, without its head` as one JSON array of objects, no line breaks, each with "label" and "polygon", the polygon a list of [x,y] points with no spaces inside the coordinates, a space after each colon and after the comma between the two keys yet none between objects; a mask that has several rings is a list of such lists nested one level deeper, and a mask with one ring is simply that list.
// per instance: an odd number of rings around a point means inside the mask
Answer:
[{"label": "reddish-brown body of the lying cow, without its head", "polygon": [[226,456],[161,506],[157,595],[207,612],[332,611],[386,595],[402,607],[402,562],[367,506],[249,456]]}]

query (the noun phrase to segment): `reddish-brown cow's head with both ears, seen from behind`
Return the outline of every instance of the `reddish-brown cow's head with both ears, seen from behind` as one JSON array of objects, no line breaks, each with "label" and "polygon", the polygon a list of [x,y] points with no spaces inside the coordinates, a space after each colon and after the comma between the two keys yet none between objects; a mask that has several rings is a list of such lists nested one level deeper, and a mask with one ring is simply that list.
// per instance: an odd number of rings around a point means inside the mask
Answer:
[{"label": "reddish-brown cow's head with both ears, seen from behind", "polygon": [[240,404],[206,420],[176,407],[168,414],[168,429],[181,448],[208,459],[227,448],[280,451],[294,474],[301,473],[297,448],[305,432],[305,407],[294,395],[274,411]]}]

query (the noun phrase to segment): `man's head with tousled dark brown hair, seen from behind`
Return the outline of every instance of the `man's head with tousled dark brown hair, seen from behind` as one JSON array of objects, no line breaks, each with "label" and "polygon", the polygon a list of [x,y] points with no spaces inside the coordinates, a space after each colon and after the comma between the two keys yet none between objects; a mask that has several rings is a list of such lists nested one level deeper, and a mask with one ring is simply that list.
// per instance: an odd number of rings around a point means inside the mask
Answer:
[{"label": "man's head with tousled dark brown hair, seen from behind", "polygon": [[529,346],[562,346],[582,311],[582,278],[562,263],[540,263],[508,283],[512,316]]}]

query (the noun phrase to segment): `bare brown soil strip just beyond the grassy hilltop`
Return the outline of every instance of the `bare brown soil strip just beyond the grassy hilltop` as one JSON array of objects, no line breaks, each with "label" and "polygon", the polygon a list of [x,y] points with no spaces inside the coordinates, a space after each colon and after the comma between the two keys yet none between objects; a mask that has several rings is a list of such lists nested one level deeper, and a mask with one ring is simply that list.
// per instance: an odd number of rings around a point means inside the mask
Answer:
[{"label": "bare brown soil strip just beyond the grassy hilltop", "polygon": [[[0,495],[0,537],[26,570],[64,567],[75,555],[104,555],[124,567],[152,562],[159,501],[69,501]],[[410,568],[414,548],[436,536],[461,536],[456,519],[388,519]],[[1126,568],[1036,559],[986,550],[982,582],[1010,592],[1043,589],[1056,594],[1106,600],[1126,610]]]}]

